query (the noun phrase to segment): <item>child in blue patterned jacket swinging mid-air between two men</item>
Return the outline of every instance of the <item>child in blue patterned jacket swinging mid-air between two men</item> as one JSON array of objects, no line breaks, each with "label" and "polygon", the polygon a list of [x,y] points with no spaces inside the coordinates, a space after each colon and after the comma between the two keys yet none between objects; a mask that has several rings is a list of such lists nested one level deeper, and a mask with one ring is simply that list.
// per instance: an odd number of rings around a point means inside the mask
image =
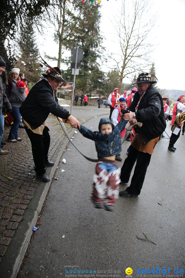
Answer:
[{"label": "child in blue patterned jacket swinging mid-air between two men", "polygon": [[121,118],[114,127],[109,118],[102,118],[99,123],[99,131],[92,131],[81,125],[79,130],[82,135],[95,142],[98,154],[98,162],[95,167],[93,180],[92,200],[95,208],[113,211],[115,201],[118,199],[120,184],[120,168],[115,157],[121,152],[121,131],[124,130],[127,121]]}]

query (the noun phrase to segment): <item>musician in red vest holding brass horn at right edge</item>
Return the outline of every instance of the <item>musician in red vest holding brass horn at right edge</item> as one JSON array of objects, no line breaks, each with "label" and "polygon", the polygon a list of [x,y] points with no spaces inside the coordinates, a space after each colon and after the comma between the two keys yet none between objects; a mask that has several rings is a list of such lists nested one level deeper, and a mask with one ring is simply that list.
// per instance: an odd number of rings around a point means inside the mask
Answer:
[{"label": "musician in red vest holding brass horn at right edge", "polygon": [[[185,112],[185,106],[183,105],[185,101],[185,97],[184,95],[181,95],[178,97],[177,99],[177,103],[175,104],[174,108],[173,108],[173,116],[172,116],[172,127],[171,130],[172,134],[169,140],[169,146],[168,146],[168,150],[171,152],[175,152],[176,148],[174,148],[174,144],[177,142],[177,140],[179,139],[179,136],[181,134],[181,126],[183,125],[183,123],[177,124],[176,123],[176,116],[179,112],[184,111]],[[176,129],[176,132],[174,132]],[[178,131],[178,132],[177,132]]]}]

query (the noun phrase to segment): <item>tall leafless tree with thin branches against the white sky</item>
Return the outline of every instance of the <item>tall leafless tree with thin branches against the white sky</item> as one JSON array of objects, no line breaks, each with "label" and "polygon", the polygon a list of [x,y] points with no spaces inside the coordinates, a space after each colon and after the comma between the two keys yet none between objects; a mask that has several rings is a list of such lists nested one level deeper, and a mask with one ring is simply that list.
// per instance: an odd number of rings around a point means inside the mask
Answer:
[{"label": "tall leafless tree with thin branches against the white sky", "polygon": [[[111,53],[114,68],[120,73],[119,89],[123,79],[131,78],[149,62],[149,54],[153,50],[148,37],[154,24],[155,16],[151,15],[151,2],[147,0],[122,0],[122,8],[116,22],[115,44],[119,46],[117,53]],[[151,64],[151,63],[149,63]]]}]

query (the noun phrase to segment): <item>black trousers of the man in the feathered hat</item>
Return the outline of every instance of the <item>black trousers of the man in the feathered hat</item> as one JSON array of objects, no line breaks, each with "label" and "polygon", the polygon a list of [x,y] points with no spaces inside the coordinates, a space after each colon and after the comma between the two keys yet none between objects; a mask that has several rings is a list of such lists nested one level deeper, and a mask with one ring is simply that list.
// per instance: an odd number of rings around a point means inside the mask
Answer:
[{"label": "black trousers of the man in the feathered hat", "polygon": [[45,126],[43,135],[33,133],[25,127],[27,135],[31,141],[33,160],[35,163],[35,172],[37,175],[45,174],[45,162],[48,162],[48,150],[50,145],[49,128]]}]

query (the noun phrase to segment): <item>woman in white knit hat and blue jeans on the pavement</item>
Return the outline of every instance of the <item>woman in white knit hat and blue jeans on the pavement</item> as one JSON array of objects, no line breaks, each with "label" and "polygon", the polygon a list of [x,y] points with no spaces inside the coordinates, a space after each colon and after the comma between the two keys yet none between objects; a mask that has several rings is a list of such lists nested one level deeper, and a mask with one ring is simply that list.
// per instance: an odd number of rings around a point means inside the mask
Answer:
[{"label": "woman in white knit hat and blue jeans on the pavement", "polygon": [[[19,107],[26,98],[24,82],[21,81],[19,77],[19,68],[12,68],[10,77],[8,78],[7,95],[12,106],[12,116],[14,118],[14,123],[11,126],[8,142],[17,143],[21,141],[22,138],[18,135],[18,128],[21,121],[21,114],[19,112]],[[19,81],[17,83],[17,81]],[[24,87],[23,87],[24,86]]]}]

